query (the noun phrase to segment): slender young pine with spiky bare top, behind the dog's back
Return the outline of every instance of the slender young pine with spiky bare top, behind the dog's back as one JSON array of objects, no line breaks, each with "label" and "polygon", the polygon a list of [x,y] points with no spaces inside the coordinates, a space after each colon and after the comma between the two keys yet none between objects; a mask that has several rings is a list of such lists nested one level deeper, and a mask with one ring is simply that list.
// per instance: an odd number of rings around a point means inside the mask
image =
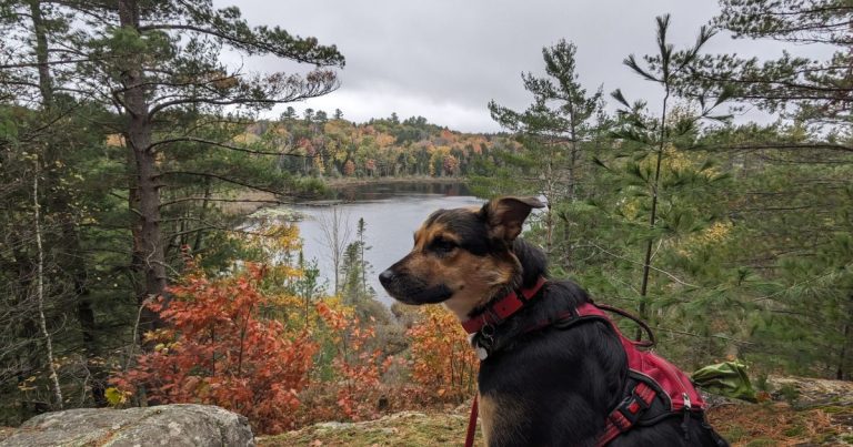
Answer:
[{"label": "slender young pine with spiky bare top, behind the dog's back", "polygon": [[[713,33],[702,28],[694,45],[675,51],[668,41],[669,16],[659,17],[656,26],[658,54],[644,57],[642,63],[632,54],[624,64],[661,87],[661,108],[656,113],[651,112],[644,101],[630,103],[621,90],[612,93],[622,106],[612,132],[616,144],[614,150],[596,159],[598,165],[605,170],[599,181],[611,186],[599,187],[603,194],[594,200],[609,214],[604,219],[610,223],[603,223],[603,226],[619,228],[615,234],[611,232],[609,238],[613,241],[613,236],[621,234],[616,240],[621,238],[628,245],[621,248],[611,242],[595,248],[616,260],[618,264],[622,263],[621,268],[629,268],[629,264],[634,272],[641,268],[639,277],[624,277],[621,287],[614,287],[612,293],[624,295],[619,289],[624,289],[625,283],[639,283],[632,284],[633,293],[625,297],[633,295],[640,317],[652,322],[655,319],[652,318],[652,307],[675,304],[669,302],[674,291],[683,293],[696,288],[693,278],[684,274],[696,274],[695,270],[685,268],[683,273],[671,270],[678,268],[675,260],[679,256],[675,254],[680,251],[680,242],[708,230],[722,213],[706,199],[713,193],[714,184],[725,179],[702,154],[684,152],[700,135],[701,120],[724,119],[712,113],[725,98],[711,102],[699,98],[692,104],[683,102],[673,106],[674,78],[690,69]],[[705,199],[700,199],[703,196]],[[602,242],[606,243],[606,240]],[[634,244],[641,244],[642,250]],[[620,276],[622,274],[615,277]],[[640,335],[638,332],[636,336]]]}]

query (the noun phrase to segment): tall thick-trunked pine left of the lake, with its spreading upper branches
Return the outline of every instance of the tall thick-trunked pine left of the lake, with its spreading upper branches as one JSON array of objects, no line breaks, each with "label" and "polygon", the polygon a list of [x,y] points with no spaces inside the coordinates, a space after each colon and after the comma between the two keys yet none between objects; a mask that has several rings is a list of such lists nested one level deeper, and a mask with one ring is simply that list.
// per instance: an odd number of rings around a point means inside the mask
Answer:
[{"label": "tall thick-trunked pine left of the lake, with its spreading upper branches", "polygon": [[[74,3],[72,8],[86,7]],[[77,70],[91,73],[103,85],[103,94],[117,101],[123,119],[122,133],[131,161],[129,204],[137,216],[132,225],[132,265],[141,274],[137,297],[142,303],[163,294],[168,282],[161,227],[164,180],[173,175],[197,175],[229,181],[205,173],[161,172],[158,156],[168,154],[177,144],[230,145],[164,132],[158,128],[159,116],[215,111],[225,105],[258,110],[321,95],[337,87],[334,74],[323,69],[304,78],[284,73],[244,75],[219,62],[221,47],[318,67],[342,65],[343,58],[334,47],[320,45],[312,38],[292,37],[278,27],[251,28],[237,8],[217,10],[204,0],[168,7],[120,0],[114,8],[79,12],[98,20],[89,23],[94,28],[86,42],[93,57],[81,62]],[[179,34],[181,39],[175,38]],[[151,324],[155,318],[148,314],[144,319]]]}]

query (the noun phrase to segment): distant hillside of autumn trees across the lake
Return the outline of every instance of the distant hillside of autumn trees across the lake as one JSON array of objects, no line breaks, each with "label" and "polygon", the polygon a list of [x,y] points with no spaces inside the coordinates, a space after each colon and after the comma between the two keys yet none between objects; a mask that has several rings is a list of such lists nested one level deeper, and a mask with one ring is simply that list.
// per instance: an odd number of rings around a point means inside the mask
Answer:
[{"label": "distant hillside of autumn trees across the lake", "polygon": [[519,148],[510,135],[456,132],[423,116],[357,124],[322,112],[259,121],[239,139],[302,155],[282,156],[280,167],[325,177],[464,176],[480,173],[495,152]]}]

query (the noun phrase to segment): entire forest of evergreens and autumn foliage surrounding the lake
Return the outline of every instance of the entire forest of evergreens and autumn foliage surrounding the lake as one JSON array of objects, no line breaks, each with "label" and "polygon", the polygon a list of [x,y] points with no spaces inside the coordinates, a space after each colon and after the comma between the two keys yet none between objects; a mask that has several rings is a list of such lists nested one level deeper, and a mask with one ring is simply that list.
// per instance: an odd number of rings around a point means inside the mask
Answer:
[{"label": "entire forest of evergreens and autumn foliage surrounding the lake", "polygon": [[[520,80],[530,105],[493,98],[503,131],[463,133],[298,114],[287,104],[345,85],[344,54],[237,7],[3,1],[0,425],[204,403],[275,434],[463,403],[464,333],[439,307],[373,299],[370,222],[340,247],[332,291],[293,222],[241,225],[238,204],[323,197],[347,179],[542,196],[524,237],[551,274],[638,314],[685,370],[736,359],[757,388],[853,379],[853,6],[721,0],[689,44],[671,42],[671,20],[649,23],[655,52],[613,64],[656,96],[583,85],[578,47],[543,42]],[[833,52],[705,51],[722,33]],[[224,49],[301,71],[248,72]]]}]

